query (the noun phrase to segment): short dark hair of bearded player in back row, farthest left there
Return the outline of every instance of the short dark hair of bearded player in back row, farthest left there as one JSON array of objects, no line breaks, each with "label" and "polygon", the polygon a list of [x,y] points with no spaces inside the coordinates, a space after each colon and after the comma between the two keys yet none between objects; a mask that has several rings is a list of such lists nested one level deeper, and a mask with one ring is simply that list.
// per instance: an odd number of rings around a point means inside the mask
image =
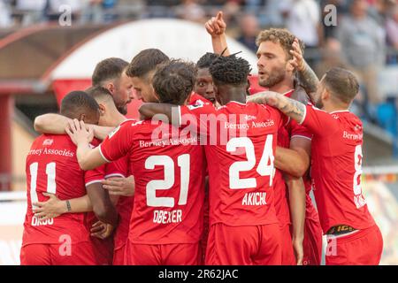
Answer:
[{"label": "short dark hair of bearded player in back row, farthest left there", "polygon": [[91,77],[93,86],[102,86],[108,80],[120,78],[128,63],[120,58],[111,57],[104,59],[96,65]]}]

